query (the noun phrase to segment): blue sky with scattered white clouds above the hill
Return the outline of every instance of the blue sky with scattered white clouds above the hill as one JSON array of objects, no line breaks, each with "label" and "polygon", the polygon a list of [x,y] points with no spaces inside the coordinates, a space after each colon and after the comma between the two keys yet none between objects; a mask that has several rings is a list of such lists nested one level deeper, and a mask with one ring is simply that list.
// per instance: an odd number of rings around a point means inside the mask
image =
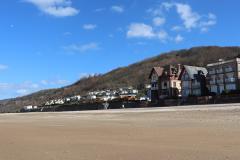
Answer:
[{"label": "blue sky with scattered white clouds above the hill", "polygon": [[239,46],[237,0],[7,0],[0,99],[194,46]]}]

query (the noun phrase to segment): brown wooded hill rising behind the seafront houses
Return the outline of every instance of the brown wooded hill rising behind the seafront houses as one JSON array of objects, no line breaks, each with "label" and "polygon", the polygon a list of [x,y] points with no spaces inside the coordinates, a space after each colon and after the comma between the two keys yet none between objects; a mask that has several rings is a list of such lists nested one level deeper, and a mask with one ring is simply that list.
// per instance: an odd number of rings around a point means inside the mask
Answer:
[{"label": "brown wooded hill rising behind the seafront houses", "polygon": [[59,89],[43,90],[28,96],[0,101],[0,112],[16,112],[25,105],[40,105],[48,100],[85,94],[88,91],[105,88],[133,86],[141,88],[149,83],[152,67],[169,64],[205,66],[218,59],[231,59],[240,55],[240,47],[195,47],[186,50],[162,53],[158,56],[115,69],[103,75],[83,78],[76,83]]}]

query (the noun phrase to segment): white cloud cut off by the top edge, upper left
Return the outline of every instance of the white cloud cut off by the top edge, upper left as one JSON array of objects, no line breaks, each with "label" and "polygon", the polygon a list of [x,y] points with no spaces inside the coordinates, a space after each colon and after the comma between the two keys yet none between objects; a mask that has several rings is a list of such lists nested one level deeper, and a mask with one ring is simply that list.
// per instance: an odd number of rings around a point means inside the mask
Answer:
[{"label": "white cloud cut off by the top edge, upper left", "polygon": [[43,13],[55,17],[74,16],[79,10],[73,8],[71,0],[24,0],[37,6]]}]

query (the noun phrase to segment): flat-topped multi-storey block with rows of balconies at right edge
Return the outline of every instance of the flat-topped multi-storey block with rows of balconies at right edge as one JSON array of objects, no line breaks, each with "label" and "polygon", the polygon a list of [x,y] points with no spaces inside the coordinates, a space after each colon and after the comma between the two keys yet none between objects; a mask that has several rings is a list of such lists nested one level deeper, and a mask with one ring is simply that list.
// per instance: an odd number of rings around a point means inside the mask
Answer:
[{"label": "flat-topped multi-storey block with rows of balconies at right edge", "polygon": [[208,88],[210,92],[221,94],[223,91],[239,90],[240,58],[232,60],[220,59],[208,64]]}]

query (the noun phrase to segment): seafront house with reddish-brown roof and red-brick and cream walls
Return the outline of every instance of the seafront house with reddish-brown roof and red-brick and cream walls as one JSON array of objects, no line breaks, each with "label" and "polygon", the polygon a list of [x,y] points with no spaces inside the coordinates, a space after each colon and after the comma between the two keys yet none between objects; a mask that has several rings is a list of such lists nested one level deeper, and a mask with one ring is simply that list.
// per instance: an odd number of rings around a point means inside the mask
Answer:
[{"label": "seafront house with reddish-brown roof and red-brick and cream walls", "polygon": [[178,97],[181,92],[181,81],[178,79],[181,67],[169,65],[154,67],[151,70],[151,100],[156,102],[164,98]]}]

